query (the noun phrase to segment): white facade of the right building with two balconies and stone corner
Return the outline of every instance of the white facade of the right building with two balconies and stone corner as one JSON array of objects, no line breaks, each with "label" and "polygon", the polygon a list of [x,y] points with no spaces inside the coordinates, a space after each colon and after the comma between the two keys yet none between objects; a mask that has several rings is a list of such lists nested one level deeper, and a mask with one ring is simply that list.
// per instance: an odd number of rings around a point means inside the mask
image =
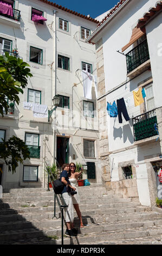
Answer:
[{"label": "white facade of the right building with two balconies and stone corner", "polygon": [[[147,206],[162,197],[160,30],[161,1],[121,0],[87,39],[97,54],[102,179]],[[133,92],[140,93],[137,106]],[[122,105],[117,117],[107,112],[114,101],[125,102],[129,120],[124,110],[119,123]]]}]

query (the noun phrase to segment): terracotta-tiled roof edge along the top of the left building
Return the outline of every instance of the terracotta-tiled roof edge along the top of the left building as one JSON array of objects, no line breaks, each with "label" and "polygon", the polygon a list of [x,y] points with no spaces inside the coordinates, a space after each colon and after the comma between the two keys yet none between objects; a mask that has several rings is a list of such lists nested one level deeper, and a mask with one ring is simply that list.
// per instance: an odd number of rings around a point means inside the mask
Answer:
[{"label": "terracotta-tiled roof edge along the top of the left building", "polygon": [[67,11],[67,13],[74,14],[75,16],[79,16],[79,17],[81,17],[83,19],[86,19],[86,20],[89,20],[89,21],[93,21],[95,23],[99,23],[98,20],[95,20],[92,17],[88,17],[88,16],[85,16],[83,14],[77,13],[76,11],[73,11],[73,10],[70,10],[68,8],[62,7],[62,5],[59,5],[59,4],[56,4],[56,3],[52,3],[52,2],[50,2],[48,0],[39,0],[39,1],[47,3],[47,4],[50,4],[51,6],[53,6],[55,8],[61,9],[63,11]]}]

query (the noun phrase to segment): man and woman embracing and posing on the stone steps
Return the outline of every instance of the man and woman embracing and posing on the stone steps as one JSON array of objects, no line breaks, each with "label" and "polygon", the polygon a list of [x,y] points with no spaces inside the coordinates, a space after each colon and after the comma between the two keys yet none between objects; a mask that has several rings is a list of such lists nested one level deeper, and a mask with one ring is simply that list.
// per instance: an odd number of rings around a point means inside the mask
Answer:
[{"label": "man and woman embracing and posing on the stone steps", "polygon": [[[75,163],[70,163],[70,164],[63,164],[62,166],[62,173],[60,175],[60,180],[64,184],[64,188],[62,191],[62,197],[66,204],[68,205],[68,208],[66,208],[66,223],[67,223],[67,230],[66,230],[66,235],[68,236],[75,236],[77,235],[77,230],[74,228],[73,224],[73,219],[74,219],[74,211],[73,211],[73,205],[74,209],[76,210],[77,216],[80,219],[80,227],[84,227],[83,222],[82,222],[82,216],[81,212],[79,209],[79,193],[76,187],[77,184],[77,179],[79,175],[82,173],[81,171],[75,172],[76,166]],[[72,191],[76,191],[77,193],[72,196],[72,194],[67,192],[67,187],[71,188]]]}]

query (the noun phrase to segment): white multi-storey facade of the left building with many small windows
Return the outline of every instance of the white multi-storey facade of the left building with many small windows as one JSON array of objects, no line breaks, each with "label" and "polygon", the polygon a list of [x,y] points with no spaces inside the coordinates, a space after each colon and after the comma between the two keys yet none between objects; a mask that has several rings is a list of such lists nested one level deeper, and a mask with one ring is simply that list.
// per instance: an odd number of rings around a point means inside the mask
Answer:
[{"label": "white multi-storey facade of the left building with many small windows", "polygon": [[[1,138],[21,138],[29,146],[31,158],[15,174],[2,161],[1,185],[4,190],[47,187],[44,169],[56,160],[58,166],[64,162],[88,164],[83,179],[101,182],[95,83],[92,97],[87,99],[82,78],[82,70],[96,75],[95,46],[85,38],[95,31],[98,21],[49,1],[5,2],[13,16],[0,13],[2,54],[13,54],[16,48],[16,56],[30,65],[33,77],[19,95],[20,105],[15,104],[0,118]],[[34,16],[44,19],[33,21]],[[55,95],[60,96],[60,105],[49,116]]]}]

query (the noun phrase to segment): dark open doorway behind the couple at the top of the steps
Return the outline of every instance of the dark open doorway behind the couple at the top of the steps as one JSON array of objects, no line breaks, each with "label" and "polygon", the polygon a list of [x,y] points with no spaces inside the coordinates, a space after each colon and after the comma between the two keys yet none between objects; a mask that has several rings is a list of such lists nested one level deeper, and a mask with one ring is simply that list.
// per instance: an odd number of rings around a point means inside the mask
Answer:
[{"label": "dark open doorway behind the couple at the top of the steps", "polygon": [[64,163],[69,163],[69,138],[57,137],[57,165],[62,166]]}]

